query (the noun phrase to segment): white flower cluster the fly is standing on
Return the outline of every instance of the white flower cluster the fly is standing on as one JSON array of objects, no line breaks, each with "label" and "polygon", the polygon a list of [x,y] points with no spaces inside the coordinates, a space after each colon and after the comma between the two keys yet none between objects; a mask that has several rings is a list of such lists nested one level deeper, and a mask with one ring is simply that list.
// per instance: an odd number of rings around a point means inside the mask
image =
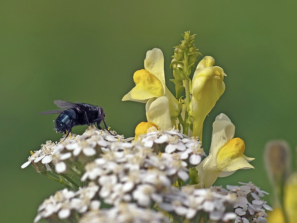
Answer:
[{"label": "white flower cluster the fly is standing on", "polygon": [[[67,164],[70,167],[83,166],[90,161],[90,158],[98,157],[102,152],[101,148],[108,147],[114,141],[125,141],[125,139],[122,135],[112,136],[93,126],[81,136],[71,134],[67,139],[61,139],[60,142],[46,141],[41,145],[40,150],[31,152],[32,155],[21,168],[32,164],[37,172],[41,172],[43,167],[46,167],[46,170],[54,169],[57,173],[65,173]],[[76,163],[80,165],[75,165]],[[75,169],[75,171],[81,172],[83,168]]]}]

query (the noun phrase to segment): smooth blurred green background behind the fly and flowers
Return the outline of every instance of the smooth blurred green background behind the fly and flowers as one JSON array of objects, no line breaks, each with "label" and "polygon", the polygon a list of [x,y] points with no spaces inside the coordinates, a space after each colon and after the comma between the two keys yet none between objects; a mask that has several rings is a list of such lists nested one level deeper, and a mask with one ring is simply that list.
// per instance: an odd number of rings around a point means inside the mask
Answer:
[{"label": "smooth blurred green background behind the fly and flowers", "polygon": [[[181,33],[197,34],[196,46],[228,75],[225,93],[206,118],[221,112],[236,125],[255,169],[219,178],[215,185],[253,181],[271,192],[262,154],[270,139],[296,142],[296,5],[293,1],[14,1],[0,7],[1,222],[32,222],[40,203],[62,187],[21,169],[30,150],[56,141],[53,100],[102,106],[106,122],[133,136],[145,105],[121,98],[143,68],[146,51],[162,49],[169,65]],[[202,57],[198,57],[201,59]],[[81,134],[86,126],[75,127]],[[293,156],[294,157],[294,156]],[[266,197],[269,200],[269,197]],[[271,204],[271,203],[270,203]]]}]

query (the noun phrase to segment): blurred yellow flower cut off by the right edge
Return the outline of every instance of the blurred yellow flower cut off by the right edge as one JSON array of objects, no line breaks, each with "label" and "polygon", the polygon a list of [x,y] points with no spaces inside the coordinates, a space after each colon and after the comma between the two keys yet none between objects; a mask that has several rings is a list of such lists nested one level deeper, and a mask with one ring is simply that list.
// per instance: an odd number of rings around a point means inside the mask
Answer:
[{"label": "blurred yellow flower cut off by the right edge", "polygon": [[[297,172],[288,178],[284,188],[285,212],[290,223],[295,223],[297,219]],[[270,216],[269,216],[270,217]]]}]

